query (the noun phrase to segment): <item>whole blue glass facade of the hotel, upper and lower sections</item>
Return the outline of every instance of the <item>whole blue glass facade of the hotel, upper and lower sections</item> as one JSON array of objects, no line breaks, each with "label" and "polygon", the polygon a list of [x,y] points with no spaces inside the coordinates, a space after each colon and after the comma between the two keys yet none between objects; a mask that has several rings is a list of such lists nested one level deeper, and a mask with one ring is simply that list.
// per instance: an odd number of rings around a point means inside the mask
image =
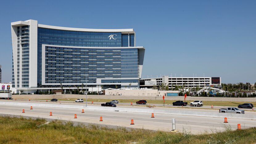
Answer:
[{"label": "whole blue glass facade of the hotel, upper and lower sections", "polygon": [[[114,35],[111,39],[110,35]],[[130,35],[130,45],[134,47]],[[64,31],[38,27],[37,83],[42,84],[42,44],[45,48],[46,83],[96,83],[96,78],[138,78],[138,49],[85,49],[79,47],[128,47],[121,32]],[[61,47],[74,46],[77,48]],[[54,70],[54,72],[53,72]]]}]

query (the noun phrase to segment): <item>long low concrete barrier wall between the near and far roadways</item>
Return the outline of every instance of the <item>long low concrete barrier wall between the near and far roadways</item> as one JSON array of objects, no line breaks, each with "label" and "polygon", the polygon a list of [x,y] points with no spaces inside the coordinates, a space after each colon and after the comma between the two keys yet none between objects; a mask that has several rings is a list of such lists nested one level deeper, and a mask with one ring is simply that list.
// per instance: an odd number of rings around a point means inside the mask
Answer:
[{"label": "long low concrete barrier wall between the near and far roadways", "polygon": [[0,104],[56,107],[56,108],[69,108],[69,109],[93,109],[93,110],[107,110],[107,111],[120,111],[120,112],[137,112],[137,113],[163,113],[163,114],[178,114],[178,115],[205,116],[205,117],[227,117],[227,118],[256,120],[256,115],[254,114],[213,113],[213,112],[203,112],[203,111],[169,110],[169,109],[138,109],[138,108],[119,108],[119,107],[113,108],[113,107],[101,107],[101,106],[85,107],[85,105],[61,105],[61,104],[41,104],[41,103],[4,102],[4,101],[0,101]]}]

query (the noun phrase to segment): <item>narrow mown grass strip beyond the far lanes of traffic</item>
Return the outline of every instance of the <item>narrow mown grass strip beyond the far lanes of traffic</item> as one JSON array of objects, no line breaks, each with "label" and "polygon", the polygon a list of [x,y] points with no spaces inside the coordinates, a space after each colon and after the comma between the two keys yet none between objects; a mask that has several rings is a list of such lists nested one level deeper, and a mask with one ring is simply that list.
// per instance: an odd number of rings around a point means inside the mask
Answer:
[{"label": "narrow mown grass strip beyond the far lanes of traffic", "polygon": [[[85,101],[85,98],[83,98]],[[46,100],[46,99],[45,99]],[[71,99],[58,99],[58,101],[75,101],[75,98],[71,98]],[[87,101],[91,102],[109,102],[112,101],[113,99],[87,99]],[[132,102],[133,104],[136,103],[136,101],[139,100],[127,100],[127,99],[117,99],[119,102],[124,102],[124,103],[130,103]],[[178,101],[178,100],[177,100]],[[174,100],[165,100],[165,104],[172,104],[172,102],[175,102]],[[187,101],[188,105],[189,102],[192,101]],[[147,103],[149,104],[163,104],[162,100],[147,100]],[[203,101],[204,105],[217,105],[217,106],[235,106],[237,107],[237,105],[243,104],[243,103],[252,103],[253,105],[256,105],[256,102],[238,102],[238,101]]]}]

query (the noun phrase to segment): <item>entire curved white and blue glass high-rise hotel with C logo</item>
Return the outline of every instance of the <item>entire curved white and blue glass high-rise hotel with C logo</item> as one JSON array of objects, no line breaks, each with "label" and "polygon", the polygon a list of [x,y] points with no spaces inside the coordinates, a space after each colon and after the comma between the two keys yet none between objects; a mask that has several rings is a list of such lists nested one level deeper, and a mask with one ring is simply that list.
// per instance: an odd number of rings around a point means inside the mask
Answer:
[{"label": "entire curved white and blue glass high-rise hotel with C logo", "polygon": [[[144,47],[133,29],[85,29],[11,23],[14,93],[51,89],[139,88]],[[84,86],[85,88],[85,86]]]}]

